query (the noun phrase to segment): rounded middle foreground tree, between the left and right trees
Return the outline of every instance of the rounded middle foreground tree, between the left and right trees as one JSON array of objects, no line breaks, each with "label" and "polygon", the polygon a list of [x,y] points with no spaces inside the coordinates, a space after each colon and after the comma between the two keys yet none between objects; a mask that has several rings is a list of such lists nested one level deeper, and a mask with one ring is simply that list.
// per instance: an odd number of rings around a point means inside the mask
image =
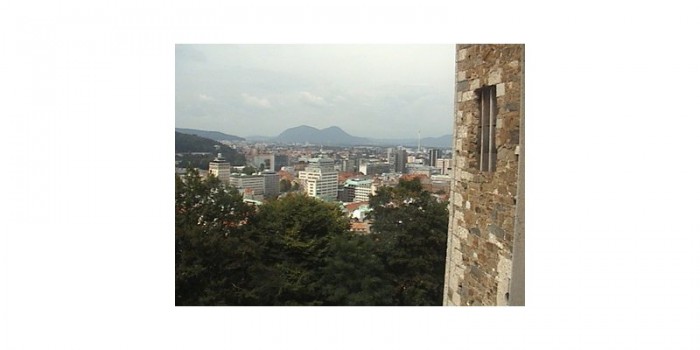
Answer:
[{"label": "rounded middle foreground tree, between the left and right trees", "polygon": [[335,205],[291,194],[259,207],[250,222],[264,250],[255,295],[262,305],[323,305],[323,267],[349,222]]}]

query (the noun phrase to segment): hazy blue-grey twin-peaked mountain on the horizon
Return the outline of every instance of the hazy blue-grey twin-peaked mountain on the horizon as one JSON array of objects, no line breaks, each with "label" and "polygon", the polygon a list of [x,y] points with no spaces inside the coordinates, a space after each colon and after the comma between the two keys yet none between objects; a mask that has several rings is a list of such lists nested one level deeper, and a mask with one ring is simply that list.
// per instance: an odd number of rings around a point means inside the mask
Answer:
[{"label": "hazy blue-grey twin-peaked mountain on the horizon", "polygon": [[352,136],[337,126],[319,130],[308,125],[287,129],[279,134],[274,141],[317,145],[363,145],[369,143],[368,139]]}]

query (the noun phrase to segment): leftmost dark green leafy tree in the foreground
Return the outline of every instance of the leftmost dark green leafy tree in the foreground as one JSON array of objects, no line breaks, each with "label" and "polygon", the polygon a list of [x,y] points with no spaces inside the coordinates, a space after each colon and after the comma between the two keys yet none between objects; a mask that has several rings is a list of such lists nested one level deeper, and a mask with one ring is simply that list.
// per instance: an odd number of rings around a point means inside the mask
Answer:
[{"label": "leftmost dark green leafy tree in the foreground", "polygon": [[188,169],[175,178],[175,304],[245,305],[260,251],[245,223],[253,216],[238,191]]}]

